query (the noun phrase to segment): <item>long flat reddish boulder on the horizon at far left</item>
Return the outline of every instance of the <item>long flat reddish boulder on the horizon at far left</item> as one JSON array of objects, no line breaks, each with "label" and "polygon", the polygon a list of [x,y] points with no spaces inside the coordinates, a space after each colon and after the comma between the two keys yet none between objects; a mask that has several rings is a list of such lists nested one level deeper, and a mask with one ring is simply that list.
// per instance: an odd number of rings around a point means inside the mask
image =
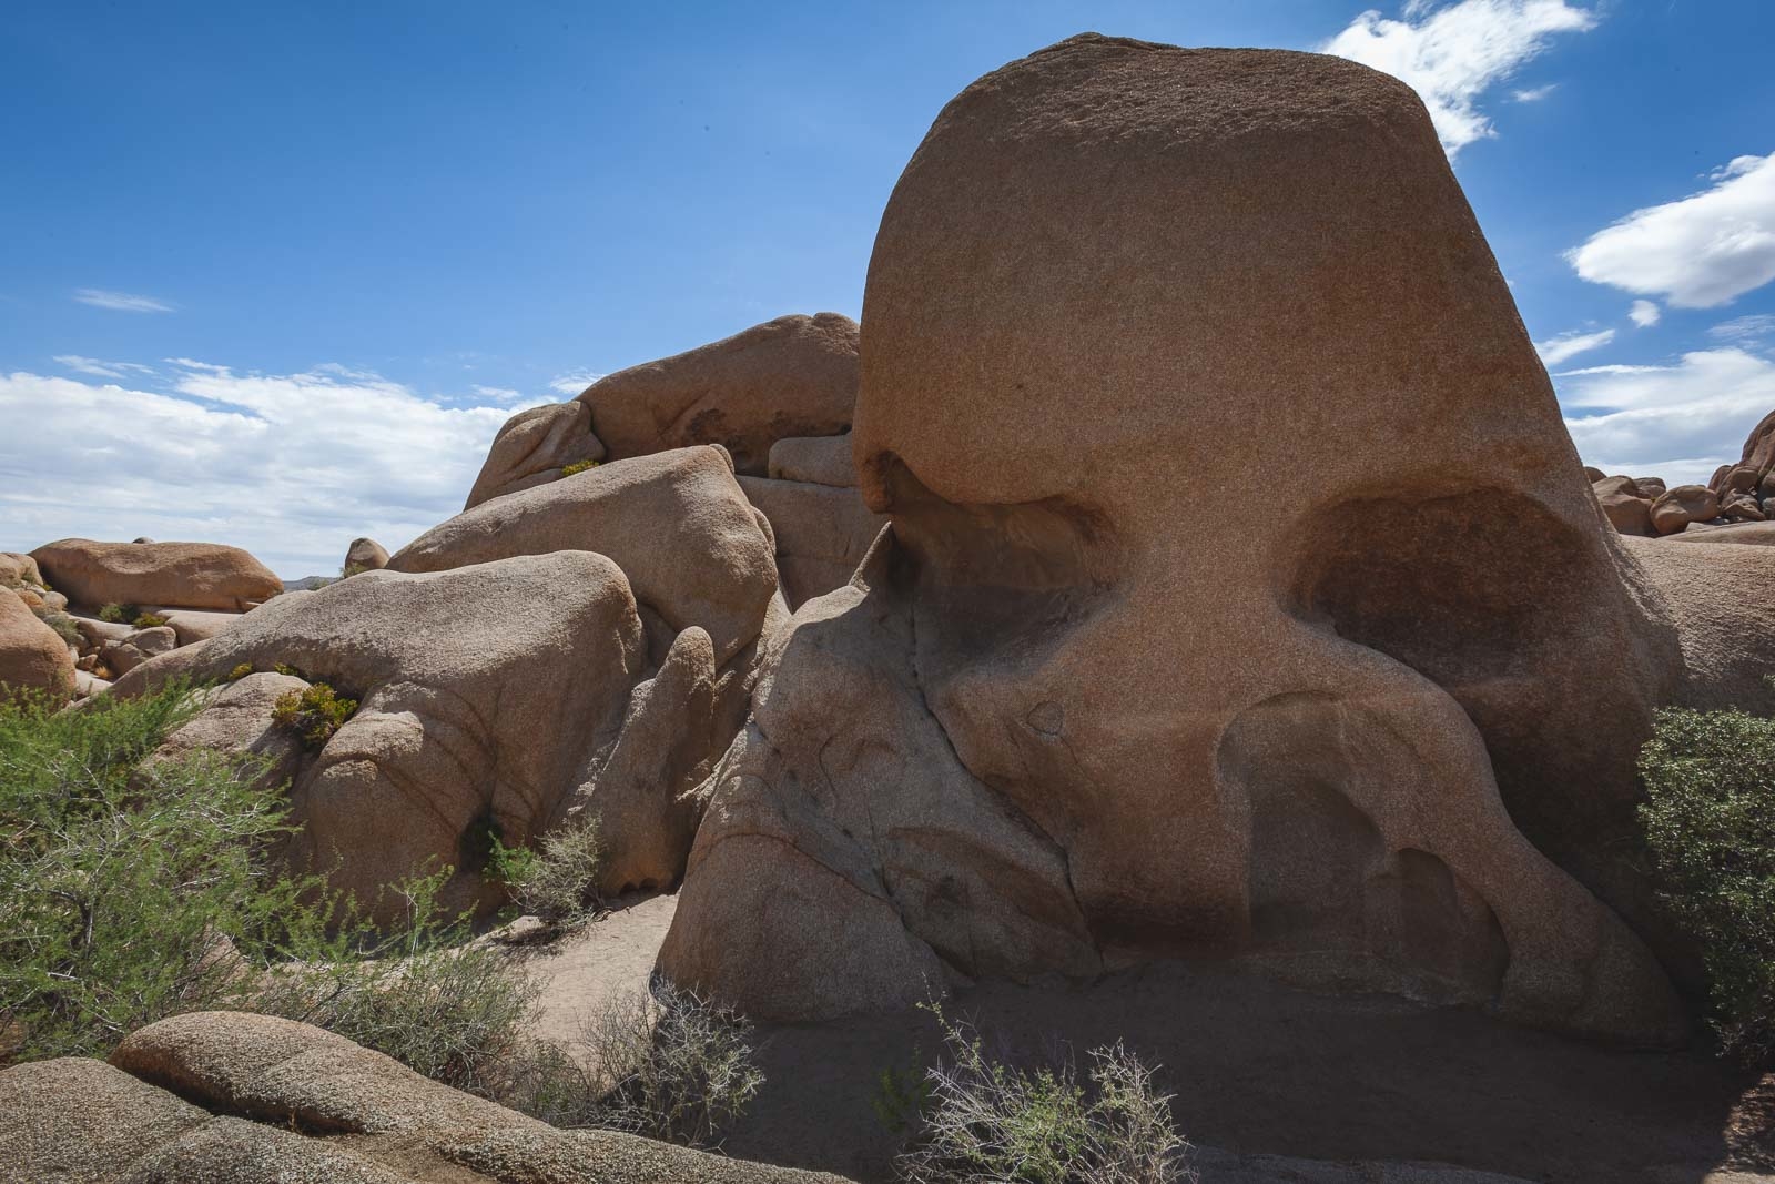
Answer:
[{"label": "long flat reddish boulder on the horizon at far left", "polygon": [[238,547],[220,543],[96,543],[64,538],[30,552],[44,577],[75,604],[172,605],[240,611],[270,600],[284,582]]}]

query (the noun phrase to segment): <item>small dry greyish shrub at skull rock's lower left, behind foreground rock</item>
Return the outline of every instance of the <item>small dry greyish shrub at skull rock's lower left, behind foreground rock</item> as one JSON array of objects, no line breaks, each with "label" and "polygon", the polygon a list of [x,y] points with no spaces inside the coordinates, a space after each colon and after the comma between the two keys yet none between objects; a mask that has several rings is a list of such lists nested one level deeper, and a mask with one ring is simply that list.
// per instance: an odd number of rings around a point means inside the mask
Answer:
[{"label": "small dry greyish shrub at skull rock's lower left, behind foreground rock", "polygon": [[548,1081],[556,1125],[719,1147],[765,1079],[746,1017],[664,978],[614,996],[579,1040],[595,1070],[577,1086],[561,1074]]}]

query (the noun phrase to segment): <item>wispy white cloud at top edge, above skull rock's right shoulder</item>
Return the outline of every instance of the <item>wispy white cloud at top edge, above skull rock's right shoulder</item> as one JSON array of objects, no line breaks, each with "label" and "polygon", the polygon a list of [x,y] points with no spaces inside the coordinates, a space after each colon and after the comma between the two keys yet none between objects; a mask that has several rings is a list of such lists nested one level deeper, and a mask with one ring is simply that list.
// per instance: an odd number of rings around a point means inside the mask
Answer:
[{"label": "wispy white cloud at top edge, above skull rock's right shoulder", "polygon": [[[1479,101],[1548,48],[1562,32],[1596,27],[1596,14],[1566,0],[1459,0],[1447,7],[1408,4],[1404,20],[1370,9],[1321,46],[1409,83],[1436,122],[1443,149],[1454,156],[1473,140],[1496,135]],[[1544,98],[1541,92],[1518,91]]]}]

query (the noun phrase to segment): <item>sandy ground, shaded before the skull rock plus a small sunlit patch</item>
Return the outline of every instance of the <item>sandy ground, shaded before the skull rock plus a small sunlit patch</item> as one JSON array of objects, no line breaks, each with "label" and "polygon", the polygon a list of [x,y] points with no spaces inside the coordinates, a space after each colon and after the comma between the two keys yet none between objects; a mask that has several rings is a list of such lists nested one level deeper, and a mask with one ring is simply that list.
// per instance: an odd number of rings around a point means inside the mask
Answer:
[{"label": "sandy ground, shaded before the skull rock plus a small sunlit patch", "polygon": [[[625,907],[525,955],[541,1035],[643,987],[674,898]],[[1629,1053],[1377,996],[1319,996],[1159,962],[1090,985],[989,983],[946,1005],[1006,1058],[1127,1040],[1177,1095],[1203,1182],[1748,1184],[1775,1180],[1775,1076],[1695,1047]],[[884,1069],[939,1049],[928,1014],[765,1028],[767,1085],[728,1136],[746,1159],[889,1179],[896,1138],[870,1104]],[[1312,1161],[1365,1161],[1347,1168]],[[1399,1164],[1448,1164],[1445,1170]]]}]

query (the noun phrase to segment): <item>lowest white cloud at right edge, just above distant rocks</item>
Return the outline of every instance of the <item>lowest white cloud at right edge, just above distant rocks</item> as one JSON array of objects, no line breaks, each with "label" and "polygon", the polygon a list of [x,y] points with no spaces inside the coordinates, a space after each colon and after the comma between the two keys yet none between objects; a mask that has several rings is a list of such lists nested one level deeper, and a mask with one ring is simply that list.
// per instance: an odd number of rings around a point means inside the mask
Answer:
[{"label": "lowest white cloud at right edge, just above distant rocks", "polygon": [[[1670,366],[1594,366],[1557,375],[1571,438],[1605,472],[1706,481],[1743,453],[1775,407],[1775,360],[1697,350]],[[1589,415],[1582,412],[1590,412]]]}]

